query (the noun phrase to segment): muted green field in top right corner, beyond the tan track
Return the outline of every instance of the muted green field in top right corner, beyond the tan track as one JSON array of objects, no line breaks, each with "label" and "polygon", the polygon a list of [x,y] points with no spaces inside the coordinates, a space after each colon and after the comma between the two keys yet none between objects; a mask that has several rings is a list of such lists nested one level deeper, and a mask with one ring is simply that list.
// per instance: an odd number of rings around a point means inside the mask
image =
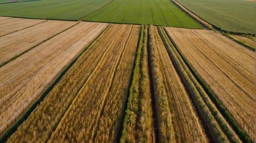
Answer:
[{"label": "muted green field in top right corner, beyond the tan track", "polygon": [[223,30],[255,34],[255,1],[177,0],[177,2]]}]

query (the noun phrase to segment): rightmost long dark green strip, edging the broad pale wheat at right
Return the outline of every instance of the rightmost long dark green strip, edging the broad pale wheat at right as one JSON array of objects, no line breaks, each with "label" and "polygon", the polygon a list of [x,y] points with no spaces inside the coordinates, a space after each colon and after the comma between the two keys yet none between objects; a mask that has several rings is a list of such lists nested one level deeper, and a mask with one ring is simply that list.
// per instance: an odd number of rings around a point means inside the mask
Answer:
[{"label": "rightmost long dark green strip, edging the broad pale wheat at right", "polygon": [[[168,32],[166,31],[166,29],[164,29],[165,32],[168,35]],[[225,108],[225,106],[222,104],[222,102],[220,102],[220,100],[218,100],[218,98],[216,97],[216,95],[213,93],[213,91],[211,91],[210,87],[204,82],[204,80],[199,76],[199,74],[195,71],[195,69],[193,68],[193,66],[191,65],[191,63],[189,63],[189,61],[185,58],[185,56],[182,54],[182,52],[180,52],[180,49],[177,47],[177,45],[175,45],[175,43],[173,42],[173,40],[171,39],[170,35],[168,35],[168,38],[171,40],[171,43],[174,45],[175,50],[177,50],[177,53],[181,56],[182,60],[184,61],[184,63],[186,64],[186,66],[189,68],[190,72],[193,74],[193,77],[195,77],[195,79],[200,83],[200,85],[202,86],[202,88],[204,89],[204,91],[207,93],[207,95],[209,96],[209,98],[211,99],[211,101],[215,104],[215,106],[218,108],[218,111],[220,111],[220,113],[222,114],[223,117],[225,117],[227,123],[234,129],[234,131],[236,132],[236,134],[238,134],[238,137],[246,143],[253,143],[252,139],[250,139],[250,137],[247,135],[247,133],[239,126],[239,124],[236,122],[236,120],[234,119],[234,117],[229,113],[229,111],[227,110],[227,108]],[[214,113],[213,115],[215,115],[216,113]],[[221,119],[221,118],[220,118]],[[220,123],[220,119],[216,118],[216,120],[219,120],[219,124],[220,126],[222,126],[222,130],[228,135],[230,136],[231,134],[229,133],[229,131],[227,129],[225,129],[225,124],[221,124]],[[229,139],[231,139],[232,137],[229,137]]]}]

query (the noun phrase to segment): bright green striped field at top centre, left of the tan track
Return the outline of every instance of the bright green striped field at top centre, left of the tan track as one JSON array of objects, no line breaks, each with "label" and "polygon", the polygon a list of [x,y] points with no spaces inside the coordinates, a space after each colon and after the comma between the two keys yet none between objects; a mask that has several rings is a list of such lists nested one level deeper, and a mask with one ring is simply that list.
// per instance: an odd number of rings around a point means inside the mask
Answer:
[{"label": "bright green striped field at top centre, left of the tan track", "polygon": [[202,28],[169,0],[114,0],[84,20]]}]

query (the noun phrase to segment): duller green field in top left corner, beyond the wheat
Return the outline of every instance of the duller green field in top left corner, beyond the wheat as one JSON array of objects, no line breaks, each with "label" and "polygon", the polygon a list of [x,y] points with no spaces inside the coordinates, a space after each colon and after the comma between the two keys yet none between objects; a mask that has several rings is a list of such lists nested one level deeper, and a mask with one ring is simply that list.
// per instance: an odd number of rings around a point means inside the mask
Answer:
[{"label": "duller green field in top left corner, beyond the wheat", "polygon": [[0,15],[56,20],[79,20],[111,0],[40,0],[0,4]]}]

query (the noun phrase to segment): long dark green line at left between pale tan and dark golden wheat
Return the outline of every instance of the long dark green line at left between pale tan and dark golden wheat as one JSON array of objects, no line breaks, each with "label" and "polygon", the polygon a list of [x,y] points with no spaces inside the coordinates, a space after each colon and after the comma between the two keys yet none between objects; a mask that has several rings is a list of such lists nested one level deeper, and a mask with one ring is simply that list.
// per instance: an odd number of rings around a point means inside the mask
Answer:
[{"label": "long dark green line at left between pale tan and dark golden wheat", "polygon": [[[79,22],[77,23],[79,24]],[[75,24],[75,25],[77,25]],[[74,26],[75,26],[74,25]],[[73,26],[72,26],[73,27]],[[71,28],[71,27],[70,27]],[[20,117],[20,119],[18,119],[11,127],[9,127],[7,129],[7,131],[3,134],[3,136],[0,138],[0,143],[4,143],[4,141],[6,141],[11,134],[13,134],[18,126],[20,126],[20,124],[22,124],[27,117],[29,117],[29,115],[31,114],[31,112],[36,108],[36,106],[38,106],[38,104],[40,104],[40,102],[43,101],[43,99],[47,96],[47,94],[54,88],[54,86],[58,83],[59,80],[61,80],[61,78],[65,75],[65,73],[70,69],[70,67],[72,67],[72,65],[77,61],[77,59],[88,49],[88,47],[90,45],[92,45],[92,43],[105,31],[108,29],[108,26],[105,27],[104,30],[102,30],[99,35],[97,35],[97,37],[95,37],[87,46],[85,46],[85,48],[78,54],[76,55],[73,60],[66,66],[64,67],[64,69],[60,72],[60,74],[58,74],[58,76],[56,76],[56,79],[49,85],[49,87],[47,87],[47,89],[42,93],[42,95],[40,95],[40,97],[38,98],[38,100],[36,100],[34,102],[34,104],[32,104],[29,109],[27,111],[25,111],[25,113],[22,115],[22,117]]]}]

